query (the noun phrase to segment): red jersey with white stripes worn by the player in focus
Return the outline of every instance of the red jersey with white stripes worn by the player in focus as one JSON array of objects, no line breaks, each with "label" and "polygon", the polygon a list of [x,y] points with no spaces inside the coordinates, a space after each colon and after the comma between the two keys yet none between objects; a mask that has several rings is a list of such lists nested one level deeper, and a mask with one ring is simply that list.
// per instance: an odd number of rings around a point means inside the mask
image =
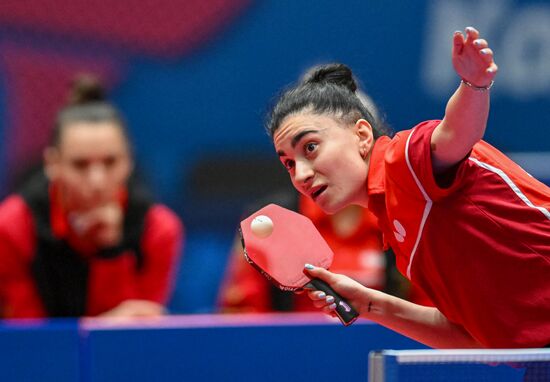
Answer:
[{"label": "red jersey with white stripes worn by the player in focus", "polygon": [[374,146],[369,208],[400,271],[493,348],[550,343],[550,189],[486,142],[448,187],[432,171],[428,121]]}]

